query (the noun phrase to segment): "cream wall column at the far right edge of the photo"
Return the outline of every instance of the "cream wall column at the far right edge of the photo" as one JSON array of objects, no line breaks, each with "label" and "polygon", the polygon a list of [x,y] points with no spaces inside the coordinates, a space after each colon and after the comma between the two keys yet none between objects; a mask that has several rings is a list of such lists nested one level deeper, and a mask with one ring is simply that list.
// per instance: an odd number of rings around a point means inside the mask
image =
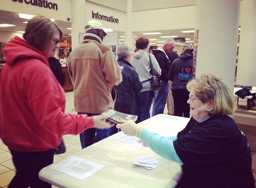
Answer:
[{"label": "cream wall column at the far right edge of the photo", "polygon": [[243,0],[236,84],[256,86],[256,0]]}]

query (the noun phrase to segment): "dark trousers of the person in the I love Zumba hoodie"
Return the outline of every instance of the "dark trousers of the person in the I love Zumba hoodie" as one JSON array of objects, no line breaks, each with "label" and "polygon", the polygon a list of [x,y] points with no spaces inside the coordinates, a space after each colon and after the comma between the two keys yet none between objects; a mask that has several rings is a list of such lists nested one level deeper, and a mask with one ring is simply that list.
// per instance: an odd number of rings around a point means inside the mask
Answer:
[{"label": "dark trousers of the person in the I love Zumba hoodie", "polygon": [[189,118],[189,91],[186,89],[172,90],[174,101],[174,115]]}]

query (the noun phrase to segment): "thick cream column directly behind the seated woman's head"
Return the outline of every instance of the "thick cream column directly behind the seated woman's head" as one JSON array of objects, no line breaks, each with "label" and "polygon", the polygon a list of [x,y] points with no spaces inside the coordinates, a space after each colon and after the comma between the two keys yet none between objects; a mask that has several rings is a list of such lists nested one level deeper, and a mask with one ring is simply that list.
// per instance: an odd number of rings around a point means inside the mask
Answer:
[{"label": "thick cream column directly behind the seated woman's head", "polygon": [[197,0],[196,77],[210,72],[234,90],[241,0]]}]

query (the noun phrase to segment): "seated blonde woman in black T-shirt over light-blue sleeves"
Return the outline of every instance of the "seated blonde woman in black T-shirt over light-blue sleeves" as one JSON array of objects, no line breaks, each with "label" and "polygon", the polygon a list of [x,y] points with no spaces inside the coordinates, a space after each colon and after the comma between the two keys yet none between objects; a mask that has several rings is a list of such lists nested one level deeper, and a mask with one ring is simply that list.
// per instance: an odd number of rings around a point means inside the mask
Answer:
[{"label": "seated blonde woman in black T-shirt over light-blue sleeves", "polygon": [[210,73],[188,82],[187,89],[192,117],[177,136],[164,138],[129,121],[117,127],[182,164],[183,177],[176,188],[255,188],[251,149],[229,116],[235,111],[231,91]]}]

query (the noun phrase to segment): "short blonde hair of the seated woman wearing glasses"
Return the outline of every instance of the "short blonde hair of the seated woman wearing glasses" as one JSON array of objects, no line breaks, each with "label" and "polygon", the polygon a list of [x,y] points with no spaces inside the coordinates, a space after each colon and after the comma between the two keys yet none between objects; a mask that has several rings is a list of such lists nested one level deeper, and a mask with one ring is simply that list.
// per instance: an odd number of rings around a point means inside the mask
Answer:
[{"label": "short blonde hair of the seated woman wearing glasses", "polygon": [[214,74],[202,74],[188,82],[187,89],[195,90],[196,97],[202,102],[213,100],[214,104],[206,110],[210,114],[232,115],[235,112],[235,99],[227,85]]}]

